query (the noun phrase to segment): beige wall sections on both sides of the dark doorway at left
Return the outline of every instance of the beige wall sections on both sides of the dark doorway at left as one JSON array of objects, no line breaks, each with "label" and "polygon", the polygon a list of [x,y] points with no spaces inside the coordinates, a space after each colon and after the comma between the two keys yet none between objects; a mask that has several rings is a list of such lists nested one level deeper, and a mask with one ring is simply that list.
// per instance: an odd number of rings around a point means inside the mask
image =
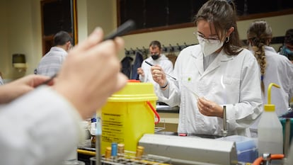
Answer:
[{"label": "beige wall sections on both sides of the dark doorway at left", "polygon": [[[42,57],[41,0],[0,1],[0,71],[5,81],[33,74]],[[105,34],[117,25],[115,0],[77,0],[78,40],[84,40],[96,26]],[[18,72],[12,67],[12,54],[23,53],[28,69]]]}]

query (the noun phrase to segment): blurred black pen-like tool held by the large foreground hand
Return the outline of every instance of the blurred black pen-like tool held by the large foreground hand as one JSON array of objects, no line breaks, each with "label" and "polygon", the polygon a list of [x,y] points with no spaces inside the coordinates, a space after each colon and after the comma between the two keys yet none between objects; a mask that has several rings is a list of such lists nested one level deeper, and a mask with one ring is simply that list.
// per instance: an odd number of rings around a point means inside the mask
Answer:
[{"label": "blurred black pen-like tool held by the large foreground hand", "polygon": [[[113,32],[112,34],[106,36],[103,41],[105,40],[113,40],[114,38],[120,36],[120,35],[124,35],[125,33],[130,32],[131,30],[135,29],[135,23],[132,20],[128,20],[125,23],[123,23],[122,25],[120,25],[117,30],[115,30],[115,32]],[[102,42],[103,42],[102,41]],[[54,74],[53,76],[50,77],[50,79],[47,79],[46,81],[44,81],[42,84],[40,85],[44,85],[44,84],[48,84],[50,81],[52,81],[55,77],[57,76],[57,74]]]}]

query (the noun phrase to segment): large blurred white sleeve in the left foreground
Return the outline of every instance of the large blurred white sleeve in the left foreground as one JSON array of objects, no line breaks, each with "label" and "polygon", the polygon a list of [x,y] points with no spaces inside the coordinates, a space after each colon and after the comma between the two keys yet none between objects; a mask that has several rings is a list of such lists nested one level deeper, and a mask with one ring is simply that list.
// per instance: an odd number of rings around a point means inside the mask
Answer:
[{"label": "large blurred white sleeve in the left foreground", "polygon": [[59,164],[81,140],[81,117],[49,87],[0,108],[0,164]]}]

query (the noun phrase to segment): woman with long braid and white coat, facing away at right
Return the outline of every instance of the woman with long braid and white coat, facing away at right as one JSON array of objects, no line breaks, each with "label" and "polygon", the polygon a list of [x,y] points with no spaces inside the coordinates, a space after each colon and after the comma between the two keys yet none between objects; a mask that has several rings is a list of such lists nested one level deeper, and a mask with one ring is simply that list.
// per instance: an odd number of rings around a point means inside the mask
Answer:
[{"label": "woman with long braid and white coat, facing away at right", "polygon": [[[289,101],[293,96],[293,64],[287,57],[277,54],[270,47],[272,40],[272,29],[266,21],[254,21],[247,30],[249,45],[260,66],[260,83],[262,89],[263,103],[268,103],[268,86],[275,83],[280,89],[271,89],[271,103],[275,105],[278,116],[288,112]],[[257,120],[251,126],[251,131],[256,132]]]}]

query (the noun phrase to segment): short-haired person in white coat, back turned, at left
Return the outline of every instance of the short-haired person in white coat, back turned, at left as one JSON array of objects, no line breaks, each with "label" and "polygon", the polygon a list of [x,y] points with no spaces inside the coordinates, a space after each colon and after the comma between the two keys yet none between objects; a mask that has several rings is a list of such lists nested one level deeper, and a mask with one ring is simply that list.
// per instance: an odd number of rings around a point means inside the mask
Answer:
[{"label": "short-haired person in white coat, back turned, at left", "polygon": [[65,31],[56,33],[56,35],[54,35],[54,46],[42,57],[37,69],[35,69],[35,74],[42,74],[45,76],[57,74],[72,44],[73,40],[69,33]]}]

